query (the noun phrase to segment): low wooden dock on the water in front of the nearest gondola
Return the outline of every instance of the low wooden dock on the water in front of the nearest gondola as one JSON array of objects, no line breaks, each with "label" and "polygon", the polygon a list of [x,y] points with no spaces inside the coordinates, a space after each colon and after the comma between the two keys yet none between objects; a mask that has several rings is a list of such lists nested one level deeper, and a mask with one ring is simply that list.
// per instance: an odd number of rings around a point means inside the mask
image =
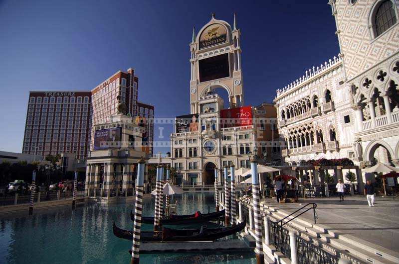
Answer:
[{"label": "low wooden dock on the water in front of the nearest gondola", "polygon": [[140,254],[205,252],[205,251],[253,251],[242,239],[229,239],[215,242],[163,242],[142,243]]}]

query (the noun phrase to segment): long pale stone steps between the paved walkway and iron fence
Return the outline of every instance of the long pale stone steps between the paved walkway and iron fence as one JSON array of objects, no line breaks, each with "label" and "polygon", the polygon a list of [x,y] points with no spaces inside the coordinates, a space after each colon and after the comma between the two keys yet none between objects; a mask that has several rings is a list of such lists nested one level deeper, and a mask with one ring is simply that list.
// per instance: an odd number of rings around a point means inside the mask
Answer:
[{"label": "long pale stone steps between the paved walkway and iron fence", "polygon": [[[266,204],[262,204],[261,210],[263,215],[269,216],[273,221],[279,221],[291,213]],[[294,216],[288,217],[287,220],[292,218]],[[284,227],[296,231],[300,237],[312,241],[313,244],[333,255],[351,260],[352,263],[399,263],[397,252],[379,247],[352,235],[340,234],[340,232],[327,226],[314,224],[301,217],[295,218]]]}]

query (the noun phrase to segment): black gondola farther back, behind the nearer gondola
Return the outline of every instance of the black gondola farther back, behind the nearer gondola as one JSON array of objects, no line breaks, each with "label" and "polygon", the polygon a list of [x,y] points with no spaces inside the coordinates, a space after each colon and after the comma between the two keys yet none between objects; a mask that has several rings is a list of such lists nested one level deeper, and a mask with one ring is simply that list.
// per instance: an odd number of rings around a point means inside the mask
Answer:
[{"label": "black gondola farther back, behind the nearer gondola", "polygon": [[[197,212],[195,214],[188,215],[170,215],[169,218],[161,219],[163,225],[180,225],[180,224],[191,224],[191,223],[203,223],[211,220],[216,220],[219,217],[224,216],[224,209],[218,212],[201,214]],[[130,219],[134,221],[134,214],[130,211]],[[154,224],[154,217],[142,217],[141,222],[144,224]]]}]

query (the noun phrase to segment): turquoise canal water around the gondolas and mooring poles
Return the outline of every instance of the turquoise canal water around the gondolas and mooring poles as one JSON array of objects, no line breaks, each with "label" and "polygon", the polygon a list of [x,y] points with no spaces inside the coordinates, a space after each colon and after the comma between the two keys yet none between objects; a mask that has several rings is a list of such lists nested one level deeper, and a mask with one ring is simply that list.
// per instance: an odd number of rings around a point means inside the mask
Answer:
[{"label": "turquoise canal water around the gondolas and mooring poles", "polygon": [[[214,211],[213,193],[184,193],[172,199],[178,200],[178,214],[190,214],[197,210]],[[154,199],[144,200],[143,215],[154,215]],[[81,205],[75,211],[71,207],[35,210],[0,216],[0,263],[10,264],[57,264],[57,263],[109,263],[130,262],[128,250],[132,242],[115,237],[112,224],[132,229],[130,210],[133,203],[111,205]],[[143,230],[151,230],[143,224]],[[140,263],[255,263],[253,253],[182,253],[142,254]]]}]

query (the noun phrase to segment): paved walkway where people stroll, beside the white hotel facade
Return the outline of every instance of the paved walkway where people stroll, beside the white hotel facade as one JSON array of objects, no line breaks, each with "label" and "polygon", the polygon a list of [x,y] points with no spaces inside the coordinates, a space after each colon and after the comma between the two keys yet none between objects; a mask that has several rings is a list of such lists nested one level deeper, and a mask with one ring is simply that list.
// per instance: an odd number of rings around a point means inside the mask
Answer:
[{"label": "paved walkway where people stroll, beside the white hotel facade", "polygon": [[[347,196],[343,202],[337,197],[308,198],[300,199],[299,204],[277,204],[272,199],[267,200],[286,211],[296,210],[309,202],[317,203],[317,224],[399,252],[399,197],[395,200],[376,197],[374,207],[369,207],[364,196]],[[313,222],[313,211],[301,217]]]}]

